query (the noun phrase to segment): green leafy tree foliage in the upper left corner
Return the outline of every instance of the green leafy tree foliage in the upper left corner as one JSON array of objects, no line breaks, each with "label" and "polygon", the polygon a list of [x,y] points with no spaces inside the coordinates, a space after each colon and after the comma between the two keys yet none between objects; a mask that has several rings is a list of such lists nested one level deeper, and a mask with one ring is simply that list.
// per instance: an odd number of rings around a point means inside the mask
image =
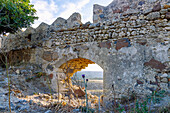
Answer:
[{"label": "green leafy tree foliage in the upper left corner", "polygon": [[0,34],[14,33],[18,29],[33,24],[36,10],[30,0],[1,0]]}]

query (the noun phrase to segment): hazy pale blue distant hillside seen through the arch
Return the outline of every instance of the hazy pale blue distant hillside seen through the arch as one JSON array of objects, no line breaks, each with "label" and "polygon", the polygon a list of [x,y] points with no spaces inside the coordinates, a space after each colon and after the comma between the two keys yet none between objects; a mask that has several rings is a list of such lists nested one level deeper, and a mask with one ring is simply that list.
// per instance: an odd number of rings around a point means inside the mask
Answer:
[{"label": "hazy pale blue distant hillside seen through the arch", "polygon": [[78,71],[73,75],[73,78],[81,79],[82,74],[85,74],[88,79],[103,79],[102,71]]}]

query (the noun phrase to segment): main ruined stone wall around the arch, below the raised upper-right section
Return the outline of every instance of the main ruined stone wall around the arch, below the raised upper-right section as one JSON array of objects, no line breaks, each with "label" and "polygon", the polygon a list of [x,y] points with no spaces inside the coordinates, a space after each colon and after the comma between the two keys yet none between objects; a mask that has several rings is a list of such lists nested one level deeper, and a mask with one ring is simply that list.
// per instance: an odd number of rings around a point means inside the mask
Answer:
[{"label": "main ruined stone wall around the arch, below the raised upper-right section", "polygon": [[54,90],[57,73],[63,73],[61,66],[77,58],[103,68],[107,96],[113,94],[112,85],[119,94],[126,94],[128,89],[138,93],[157,87],[168,90],[170,5],[156,1],[152,5],[151,11],[119,12],[119,19],[98,23],[82,24],[80,15],[74,13],[67,20],[58,18],[52,25],[42,23],[36,29],[9,35],[3,39],[2,48],[33,49],[29,62],[52,76]]}]

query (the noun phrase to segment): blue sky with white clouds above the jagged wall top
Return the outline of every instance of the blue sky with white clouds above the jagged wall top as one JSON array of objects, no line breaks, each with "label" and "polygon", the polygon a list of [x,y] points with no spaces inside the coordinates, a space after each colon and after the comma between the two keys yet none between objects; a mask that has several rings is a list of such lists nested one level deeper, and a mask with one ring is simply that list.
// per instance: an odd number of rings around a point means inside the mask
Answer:
[{"label": "blue sky with white clouds above the jagged wall top", "polygon": [[65,19],[78,12],[82,16],[82,22],[91,21],[93,19],[93,4],[103,6],[109,5],[113,0],[30,0],[37,10],[38,20],[32,25],[37,27],[41,22],[52,24],[58,17]]}]

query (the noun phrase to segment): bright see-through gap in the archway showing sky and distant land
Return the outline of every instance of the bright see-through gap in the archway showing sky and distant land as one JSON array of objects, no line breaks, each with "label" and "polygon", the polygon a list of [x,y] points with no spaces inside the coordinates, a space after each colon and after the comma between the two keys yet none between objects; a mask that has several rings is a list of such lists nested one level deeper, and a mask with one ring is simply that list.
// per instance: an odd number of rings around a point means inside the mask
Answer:
[{"label": "bright see-through gap in the archway showing sky and distant land", "polygon": [[85,69],[77,71],[71,78],[72,84],[85,87],[82,76],[85,74],[88,79],[87,92],[100,96],[103,94],[103,69],[98,64],[88,64]]}]

